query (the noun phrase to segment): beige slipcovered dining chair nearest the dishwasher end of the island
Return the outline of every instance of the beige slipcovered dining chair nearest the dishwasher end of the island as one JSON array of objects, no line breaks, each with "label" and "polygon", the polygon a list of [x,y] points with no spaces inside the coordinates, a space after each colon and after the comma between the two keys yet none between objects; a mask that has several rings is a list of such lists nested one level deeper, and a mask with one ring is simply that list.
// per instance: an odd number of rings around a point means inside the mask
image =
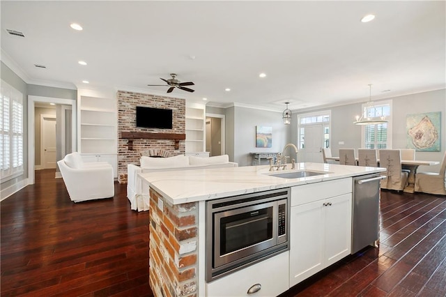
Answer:
[{"label": "beige slipcovered dining chair nearest the dishwasher end of the island", "polygon": [[386,178],[381,180],[381,188],[401,191],[408,185],[408,173],[401,170],[401,152],[399,149],[381,149],[379,167],[387,169],[382,172]]}]

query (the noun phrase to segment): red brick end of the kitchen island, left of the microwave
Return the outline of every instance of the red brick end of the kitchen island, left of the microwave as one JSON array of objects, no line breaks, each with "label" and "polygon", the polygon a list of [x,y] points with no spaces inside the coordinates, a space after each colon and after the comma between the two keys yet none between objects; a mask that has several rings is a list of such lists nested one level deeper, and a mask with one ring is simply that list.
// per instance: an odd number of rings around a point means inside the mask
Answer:
[{"label": "red brick end of the kitchen island, left of the microwave", "polygon": [[198,202],[172,206],[152,188],[150,196],[149,282],[153,294],[197,296]]}]

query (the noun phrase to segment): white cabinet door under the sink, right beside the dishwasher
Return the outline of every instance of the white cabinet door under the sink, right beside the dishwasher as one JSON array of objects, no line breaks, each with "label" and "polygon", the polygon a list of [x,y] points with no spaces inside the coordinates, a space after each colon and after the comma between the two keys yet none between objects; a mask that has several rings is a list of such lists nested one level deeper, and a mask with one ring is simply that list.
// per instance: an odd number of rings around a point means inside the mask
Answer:
[{"label": "white cabinet door under the sink, right beside the dishwasher", "polygon": [[351,193],[326,199],[324,203],[325,266],[330,266],[351,251]]}]

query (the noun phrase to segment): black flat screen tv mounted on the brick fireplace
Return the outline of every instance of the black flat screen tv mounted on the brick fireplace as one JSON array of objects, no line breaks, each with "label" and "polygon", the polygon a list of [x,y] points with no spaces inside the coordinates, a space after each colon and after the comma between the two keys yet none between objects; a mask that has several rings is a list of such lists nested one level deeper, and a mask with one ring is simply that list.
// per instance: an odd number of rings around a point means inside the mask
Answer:
[{"label": "black flat screen tv mounted on the brick fireplace", "polygon": [[137,127],[172,128],[172,109],[137,106]]}]

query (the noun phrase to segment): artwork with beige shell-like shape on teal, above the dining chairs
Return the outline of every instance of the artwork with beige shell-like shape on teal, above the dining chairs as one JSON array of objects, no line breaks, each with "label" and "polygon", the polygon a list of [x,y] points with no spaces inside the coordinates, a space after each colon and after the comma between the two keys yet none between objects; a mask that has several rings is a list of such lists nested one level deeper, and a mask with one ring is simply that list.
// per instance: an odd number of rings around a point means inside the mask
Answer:
[{"label": "artwork with beige shell-like shape on teal, above the dining chairs", "polygon": [[441,112],[406,116],[407,147],[416,151],[440,151]]}]

